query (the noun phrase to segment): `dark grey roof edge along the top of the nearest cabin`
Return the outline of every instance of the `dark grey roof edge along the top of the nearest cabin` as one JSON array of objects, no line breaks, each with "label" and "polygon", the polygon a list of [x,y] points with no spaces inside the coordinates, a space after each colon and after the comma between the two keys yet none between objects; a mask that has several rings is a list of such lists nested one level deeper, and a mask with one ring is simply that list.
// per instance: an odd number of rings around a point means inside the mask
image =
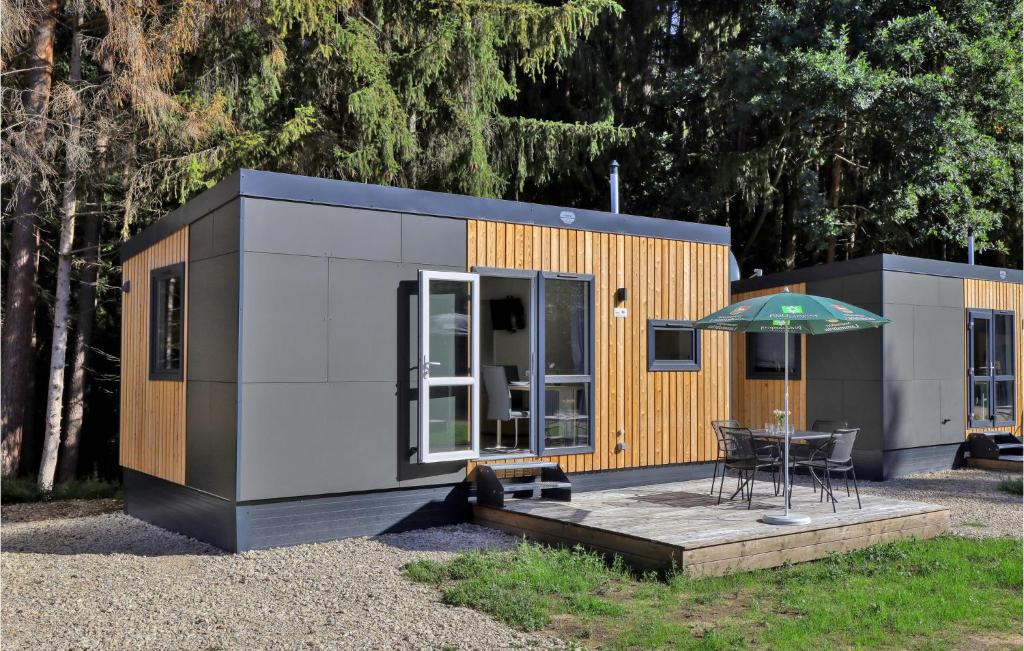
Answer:
[{"label": "dark grey roof edge along the top of the nearest cabin", "polygon": [[353,181],[239,170],[181,208],[161,218],[122,246],[122,260],[130,258],[181,226],[191,223],[234,197],[384,210],[434,217],[483,219],[597,232],[646,235],[729,246],[728,226],[698,224],[657,217],[641,217],[597,210],[547,206],[449,194]]}]

